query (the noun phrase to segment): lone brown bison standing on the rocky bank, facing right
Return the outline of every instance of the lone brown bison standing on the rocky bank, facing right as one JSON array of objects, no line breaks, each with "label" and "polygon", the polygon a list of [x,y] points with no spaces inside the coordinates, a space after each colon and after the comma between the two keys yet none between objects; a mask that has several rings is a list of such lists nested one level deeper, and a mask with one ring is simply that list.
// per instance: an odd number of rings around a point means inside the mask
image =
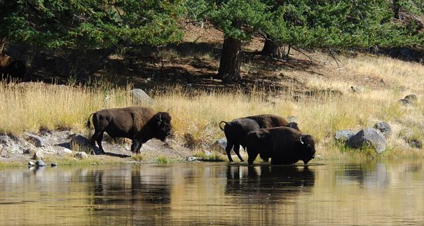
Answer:
[{"label": "lone brown bison standing on the rocky bank, facing right", "polygon": [[140,153],[142,144],[151,138],[165,140],[171,131],[171,117],[167,112],[155,112],[150,107],[124,107],[102,109],[90,114],[87,126],[90,127],[90,117],[93,115],[95,132],[91,137],[91,145],[95,141],[99,145],[100,152],[104,154],[102,147],[103,133],[106,132],[111,138],[129,138],[132,140],[131,152]]}]

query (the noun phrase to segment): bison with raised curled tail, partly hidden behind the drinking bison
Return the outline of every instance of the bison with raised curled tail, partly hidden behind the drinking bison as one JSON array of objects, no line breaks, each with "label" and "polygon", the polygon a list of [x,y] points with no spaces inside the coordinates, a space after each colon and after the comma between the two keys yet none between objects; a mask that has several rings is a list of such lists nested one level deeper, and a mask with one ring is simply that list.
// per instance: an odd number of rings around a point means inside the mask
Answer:
[{"label": "bison with raised curled tail, partly hidden behind the drinking bison", "polygon": [[[222,124],[225,124],[224,128]],[[227,145],[225,148],[226,154],[229,161],[233,161],[231,158],[231,149],[237,154],[240,161],[244,161],[240,156],[240,145],[245,149],[245,136],[250,131],[257,130],[259,128],[272,128],[277,126],[290,126],[297,130],[299,127],[296,123],[288,123],[286,119],[273,114],[259,114],[250,117],[234,119],[233,121],[221,121],[219,128],[224,131]]]}]

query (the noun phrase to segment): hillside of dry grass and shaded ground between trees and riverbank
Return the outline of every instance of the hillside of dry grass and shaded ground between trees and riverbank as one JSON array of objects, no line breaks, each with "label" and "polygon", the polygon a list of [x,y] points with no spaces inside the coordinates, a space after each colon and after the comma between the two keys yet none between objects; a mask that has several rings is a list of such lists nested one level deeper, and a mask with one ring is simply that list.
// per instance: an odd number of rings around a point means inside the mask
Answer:
[{"label": "hillside of dry grass and shaded ground between trees and riverbank", "polygon": [[[151,107],[177,106],[171,110],[172,140],[189,147],[192,154],[210,151],[214,140],[224,137],[219,121],[273,113],[296,117],[303,133],[314,136],[324,158],[357,157],[336,144],[334,134],[381,121],[392,127],[383,157],[424,156],[422,149],[411,146],[413,140],[424,140],[422,63],[353,51],[331,57],[320,50],[294,49],[289,59],[278,60],[259,55],[264,40],[255,37],[243,46],[242,81],[223,84],[216,76],[223,34],[208,26],[184,24],[184,29],[184,41],[178,46],[138,46],[97,54],[98,58],[87,58],[96,55],[88,51],[85,55],[28,51],[32,60],[26,81],[1,86],[0,101],[8,107],[0,108],[6,116],[0,119],[0,131],[20,135],[38,133],[39,128],[69,128],[87,134],[83,125],[88,114],[133,105],[128,88],[142,88],[156,100]],[[68,65],[76,60],[81,67],[64,68],[63,60]],[[36,80],[69,86],[43,88]],[[120,88],[111,88],[111,83]],[[409,94],[417,95],[418,101],[402,105],[399,100]],[[154,157],[158,156],[160,152]]]}]

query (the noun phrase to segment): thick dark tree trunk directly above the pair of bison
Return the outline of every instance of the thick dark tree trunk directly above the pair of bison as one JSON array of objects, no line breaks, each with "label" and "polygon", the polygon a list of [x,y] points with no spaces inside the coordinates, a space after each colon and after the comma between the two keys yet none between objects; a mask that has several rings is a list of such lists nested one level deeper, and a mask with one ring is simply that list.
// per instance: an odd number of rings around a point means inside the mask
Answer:
[{"label": "thick dark tree trunk directly above the pair of bison", "polygon": [[240,75],[241,41],[230,37],[224,38],[221,60],[219,61],[218,76],[224,83],[231,83],[241,79]]}]

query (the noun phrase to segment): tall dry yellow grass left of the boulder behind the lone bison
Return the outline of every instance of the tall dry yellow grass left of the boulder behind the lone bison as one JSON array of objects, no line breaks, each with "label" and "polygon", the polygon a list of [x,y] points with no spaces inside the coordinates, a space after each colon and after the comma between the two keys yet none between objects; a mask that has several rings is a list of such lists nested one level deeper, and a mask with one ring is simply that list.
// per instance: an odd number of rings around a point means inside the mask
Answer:
[{"label": "tall dry yellow grass left of the boulder behind the lone bison", "polygon": [[36,132],[39,128],[81,130],[88,115],[97,109],[130,105],[127,89],[0,83],[0,133]]}]

